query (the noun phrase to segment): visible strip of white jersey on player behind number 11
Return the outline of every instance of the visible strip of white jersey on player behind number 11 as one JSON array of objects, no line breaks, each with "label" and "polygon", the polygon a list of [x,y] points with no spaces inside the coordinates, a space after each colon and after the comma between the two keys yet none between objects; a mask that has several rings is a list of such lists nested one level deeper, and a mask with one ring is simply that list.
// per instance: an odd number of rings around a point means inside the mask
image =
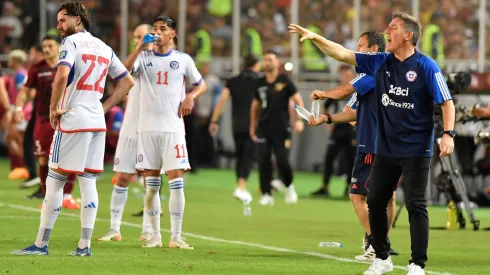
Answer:
[{"label": "visible strip of white jersey on player behind number 11", "polygon": [[128,101],[126,103],[126,110],[124,112],[124,120],[119,132],[119,139],[121,137],[137,139],[138,138],[138,120],[140,115],[140,93],[141,84],[139,77],[134,78],[134,86],[129,90]]}]

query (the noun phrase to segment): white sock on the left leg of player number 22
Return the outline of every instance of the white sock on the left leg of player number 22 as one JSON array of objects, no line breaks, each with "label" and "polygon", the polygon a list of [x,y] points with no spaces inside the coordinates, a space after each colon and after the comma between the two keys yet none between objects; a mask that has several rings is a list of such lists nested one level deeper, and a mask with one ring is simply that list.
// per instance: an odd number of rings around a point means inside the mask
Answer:
[{"label": "white sock on the left leg of player number 22", "polygon": [[49,237],[53,230],[56,218],[61,211],[63,203],[63,186],[66,176],[56,173],[51,169],[46,178],[46,195],[41,209],[41,223],[36,238],[36,246],[44,247],[49,243]]}]

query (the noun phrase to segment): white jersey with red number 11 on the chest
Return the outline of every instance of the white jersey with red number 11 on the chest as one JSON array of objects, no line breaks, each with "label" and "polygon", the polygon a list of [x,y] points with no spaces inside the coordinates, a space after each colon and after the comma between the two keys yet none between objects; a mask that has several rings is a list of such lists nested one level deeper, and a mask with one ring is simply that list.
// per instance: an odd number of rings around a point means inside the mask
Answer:
[{"label": "white jersey with red number 11 on the chest", "polygon": [[194,86],[202,77],[192,58],[171,50],[167,54],[142,52],[133,67],[141,81],[140,132],[169,132],[185,134],[179,107],[185,98],[185,80]]}]

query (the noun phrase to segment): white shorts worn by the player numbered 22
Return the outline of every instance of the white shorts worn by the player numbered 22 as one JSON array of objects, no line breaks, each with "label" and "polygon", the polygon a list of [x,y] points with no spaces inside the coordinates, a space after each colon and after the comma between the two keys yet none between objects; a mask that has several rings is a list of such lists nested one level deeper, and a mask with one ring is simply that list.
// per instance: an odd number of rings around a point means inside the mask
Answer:
[{"label": "white shorts worn by the player numbered 22", "polygon": [[83,174],[104,172],[105,132],[54,132],[49,167]]}]

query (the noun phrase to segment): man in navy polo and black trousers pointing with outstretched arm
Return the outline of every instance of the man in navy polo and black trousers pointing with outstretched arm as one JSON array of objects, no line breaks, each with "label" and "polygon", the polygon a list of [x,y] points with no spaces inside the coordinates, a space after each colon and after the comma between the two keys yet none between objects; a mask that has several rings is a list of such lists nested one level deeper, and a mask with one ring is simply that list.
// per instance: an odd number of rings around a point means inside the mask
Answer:
[{"label": "man in navy polo and black trousers pointing with outstretched arm", "polygon": [[376,259],[364,275],[393,270],[386,207],[400,173],[410,221],[412,259],[408,275],[425,274],[429,243],[425,194],[434,145],[434,103],[441,105],[444,123],[439,143],[441,157],[454,150],[455,108],[435,61],[415,50],[420,22],[409,14],[394,13],[386,30],[388,53],[376,54],[345,49],[294,24],[289,30],[299,33],[302,41],[312,40],[327,55],[357,66],[359,72],[376,79],[378,132],[367,199]]}]

